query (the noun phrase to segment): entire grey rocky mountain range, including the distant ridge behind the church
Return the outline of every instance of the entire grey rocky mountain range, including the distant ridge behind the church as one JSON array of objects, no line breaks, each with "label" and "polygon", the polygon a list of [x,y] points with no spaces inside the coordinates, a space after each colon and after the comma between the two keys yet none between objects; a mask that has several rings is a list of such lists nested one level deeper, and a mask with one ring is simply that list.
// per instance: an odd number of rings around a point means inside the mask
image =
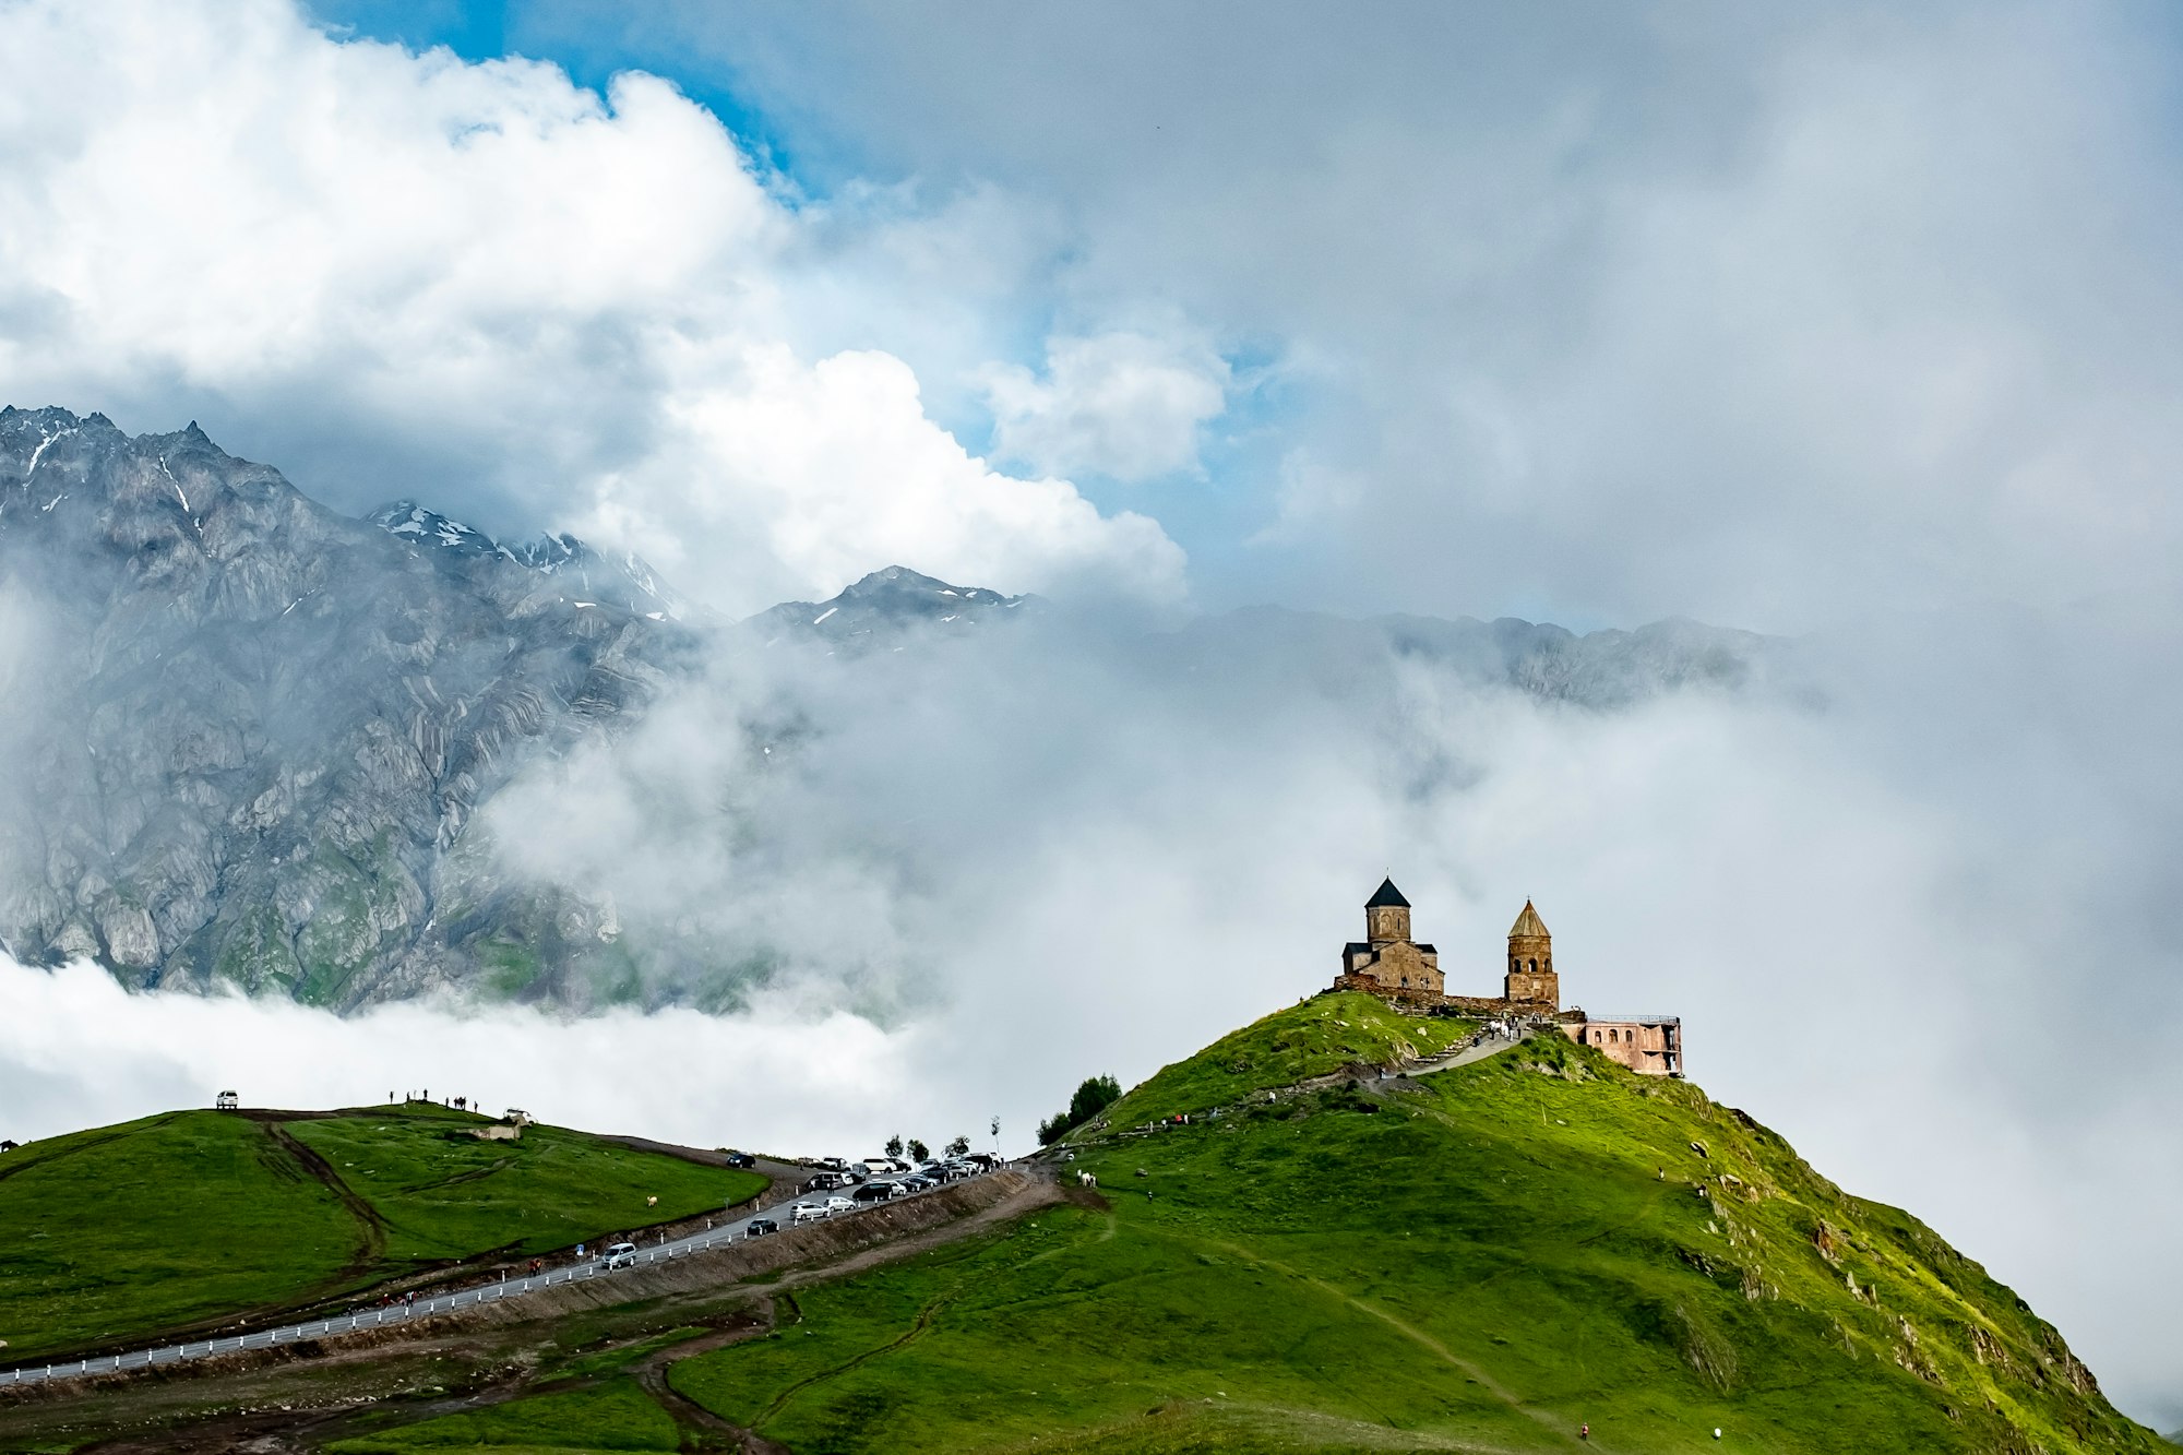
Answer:
[{"label": "entire grey rocky mountain range, including the distant ridge behind the church", "polygon": [[[596,885],[506,874],[493,797],[524,780],[550,802],[554,765],[683,682],[760,682],[703,732],[742,734],[777,773],[830,712],[945,690],[912,649],[1006,642],[1015,673],[1100,631],[904,566],[725,627],[568,535],[502,544],[413,500],[351,520],[194,424],[129,437],[0,409],[0,948],[341,1009],[443,987],[725,1003],[764,946],[709,944],[703,915],[624,924]],[[1262,610],[1096,649],[1244,710],[1292,690],[1382,701],[1406,664],[1615,710],[1733,690],[1770,642]],[[858,673],[869,688],[840,686]]]}]

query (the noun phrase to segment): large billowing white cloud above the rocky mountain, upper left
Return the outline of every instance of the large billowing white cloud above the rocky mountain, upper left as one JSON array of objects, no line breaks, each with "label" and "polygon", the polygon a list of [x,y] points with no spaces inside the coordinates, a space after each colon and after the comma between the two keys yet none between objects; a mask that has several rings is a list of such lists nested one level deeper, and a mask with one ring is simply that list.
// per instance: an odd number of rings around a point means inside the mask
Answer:
[{"label": "large billowing white cloud above the rocky mountain, upper left", "polygon": [[897,358],[801,354],[825,247],[666,81],[275,0],[15,4],[0,50],[0,398],[199,415],[351,509],[583,522],[723,610],[897,559],[1181,592],[1155,522],[971,459]]}]

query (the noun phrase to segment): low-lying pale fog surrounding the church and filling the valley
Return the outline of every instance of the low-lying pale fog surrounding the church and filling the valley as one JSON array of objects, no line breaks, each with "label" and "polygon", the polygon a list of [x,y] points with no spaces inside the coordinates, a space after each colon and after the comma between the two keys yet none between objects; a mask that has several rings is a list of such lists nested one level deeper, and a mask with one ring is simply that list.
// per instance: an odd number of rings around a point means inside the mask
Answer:
[{"label": "low-lying pale fog surrounding the church and filling the valley", "polygon": [[[1382,872],[1450,985],[1532,896],[1565,1001],[1685,1018],[1692,1077],[1908,1206],[2172,1422],[2183,773],[2159,612],[1869,623],[1618,710],[1417,662],[1185,671],[1065,631],[723,664],[506,793],[520,867],[777,970],[703,1016],[129,996],[0,966],[0,1136],[465,1095],[782,1154],[1024,1151],[1325,985]],[[2172,620],[2172,618],[2170,618]],[[2133,625],[2135,623],[2135,625]],[[1292,662],[1281,669],[1279,662]],[[1450,1188],[1460,1195],[1460,1188]]]}]

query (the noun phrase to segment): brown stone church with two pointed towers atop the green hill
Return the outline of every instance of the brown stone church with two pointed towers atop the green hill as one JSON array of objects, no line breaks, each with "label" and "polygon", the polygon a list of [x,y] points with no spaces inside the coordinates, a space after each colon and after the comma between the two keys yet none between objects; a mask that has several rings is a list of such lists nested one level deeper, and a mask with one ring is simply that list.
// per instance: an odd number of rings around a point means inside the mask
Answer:
[{"label": "brown stone church with two pointed towers atop the green hill", "polygon": [[1594,1046],[1631,1070],[1655,1077],[1683,1075],[1683,1022],[1679,1016],[1587,1016],[1561,1009],[1561,974],[1554,972],[1554,937],[1537,907],[1508,926],[1508,970],[1500,996],[1452,996],[1441,974],[1441,955],[1410,939],[1410,900],[1393,878],[1364,900],[1364,939],[1343,946],[1343,968],[1334,990],[1364,990],[1397,1005],[1458,1012],[1465,1016],[1517,1016],[1552,1020],[1570,1040]]}]

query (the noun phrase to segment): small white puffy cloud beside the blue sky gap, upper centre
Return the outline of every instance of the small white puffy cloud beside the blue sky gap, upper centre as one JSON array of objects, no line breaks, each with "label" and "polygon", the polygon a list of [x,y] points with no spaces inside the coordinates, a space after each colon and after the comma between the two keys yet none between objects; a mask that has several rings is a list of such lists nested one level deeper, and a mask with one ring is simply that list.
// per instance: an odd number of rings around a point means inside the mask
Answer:
[{"label": "small white puffy cloud beside the blue sky gap, upper centre", "polygon": [[1057,474],[1144,481],[1198,468],[1198,428],[1227,409],[1229,365],[1142,332],[1050,339],[1046,376],[987,374],[993,452]]}]

